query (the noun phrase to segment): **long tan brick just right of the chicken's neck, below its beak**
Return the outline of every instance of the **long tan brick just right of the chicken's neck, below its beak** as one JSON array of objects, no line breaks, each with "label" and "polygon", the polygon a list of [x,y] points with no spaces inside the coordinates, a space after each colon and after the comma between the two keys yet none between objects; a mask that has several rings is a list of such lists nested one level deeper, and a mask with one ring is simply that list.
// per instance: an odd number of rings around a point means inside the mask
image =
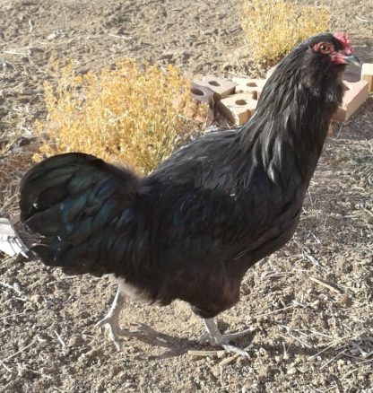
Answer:
[{"label": "long tan brick just right of the chicken's neck, below its beak", "polygon": [[343,103],[333,115],[334,120],[347,121],[359,109],[360,105],[367,100],[368,82],[347,82],[343,81],[345,92],[343,96]]}]

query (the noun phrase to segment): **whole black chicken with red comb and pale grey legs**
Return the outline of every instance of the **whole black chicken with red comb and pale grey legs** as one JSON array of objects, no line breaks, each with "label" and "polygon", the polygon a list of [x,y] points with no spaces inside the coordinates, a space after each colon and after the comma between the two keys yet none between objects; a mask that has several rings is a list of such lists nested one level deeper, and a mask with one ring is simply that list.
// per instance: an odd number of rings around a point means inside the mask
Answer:
[{"label": "whole black chicken with red comb and pale grey legs", "polygon": [[302,42],[245,126],[195,139],[143,178],[83,153],[40,162],[21,185],[22,223],[41,235],[32,250],[66,274],[116,275],[100,325],[117,346],[128,296],[187,301],[204,319],[204,340],[241,353],[214,317],[239,301],[247,269],[291,239],[347,63],[359,59],[343,33]]}]

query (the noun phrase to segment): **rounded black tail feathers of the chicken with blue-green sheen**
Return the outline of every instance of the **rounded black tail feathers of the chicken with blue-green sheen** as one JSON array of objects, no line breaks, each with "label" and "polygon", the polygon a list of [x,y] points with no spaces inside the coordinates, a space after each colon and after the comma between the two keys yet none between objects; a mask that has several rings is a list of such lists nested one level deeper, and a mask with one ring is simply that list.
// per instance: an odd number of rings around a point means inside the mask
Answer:
[{"label": "rounded black tail feathers of the chicken with blue-green sheen", "polygon": [[[89,154],[65,153],[39,162],[21,182],[21,221],[42,235],[31,249],[65,273],[114,273],[108,261],[110,233],[126,234],[134,220],[138,179]],[[121,219],[122,218],[122,219]],[[120,227],[118,224],[120,223]],[[123,256],[125,257],[125,256]]]}]

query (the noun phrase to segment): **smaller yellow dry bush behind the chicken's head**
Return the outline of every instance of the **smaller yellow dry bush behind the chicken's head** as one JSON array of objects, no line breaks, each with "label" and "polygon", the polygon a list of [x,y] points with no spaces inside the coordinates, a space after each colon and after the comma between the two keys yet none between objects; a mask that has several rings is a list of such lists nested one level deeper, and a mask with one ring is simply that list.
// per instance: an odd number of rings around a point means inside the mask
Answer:
[{"label": "smaller yellow dry bush behind the chicken's head", "polygon": [[327,31],[329,11],[299,6],[293,0],[244,0],[242,27],[252,57],[277,60],[308,37]]}]

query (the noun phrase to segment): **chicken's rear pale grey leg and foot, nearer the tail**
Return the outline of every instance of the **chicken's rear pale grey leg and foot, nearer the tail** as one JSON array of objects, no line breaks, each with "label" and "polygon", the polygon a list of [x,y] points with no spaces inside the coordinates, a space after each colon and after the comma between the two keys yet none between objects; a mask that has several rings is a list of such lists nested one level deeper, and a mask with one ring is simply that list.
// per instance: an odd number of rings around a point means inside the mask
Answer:
[{"label": "chicken's rear pale grey leg and foot, nearer the tail", "polygon": [[116,345],[118,351],[121,348],[119,336],[131,336],[130,332],[119,327],[119,315],[123,305],[125,304],[125,301],[126,297],[124,293],[122,293],[120,288],[118,288],[110,310],[108,310],[108,314],[105,316],[105,318],[96,323],[97,327],[104,327],[108,325],[108,336],[111,338],[114,345]]}]

